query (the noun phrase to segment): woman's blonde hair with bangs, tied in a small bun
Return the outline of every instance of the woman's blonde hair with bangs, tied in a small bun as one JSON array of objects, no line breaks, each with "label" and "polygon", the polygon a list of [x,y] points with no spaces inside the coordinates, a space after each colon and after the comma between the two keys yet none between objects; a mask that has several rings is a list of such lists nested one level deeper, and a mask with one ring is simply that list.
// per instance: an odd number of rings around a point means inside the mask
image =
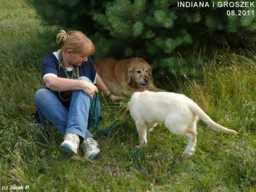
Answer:
[{"label": "woman's blonde hair with bangs, tied in a small bun", "polygon": [[84,55],[93,55],[95,47],[93,42],[81,31],[69,31],[66,33],[64,30],[60,30],[57,34],[56,41],[61,44],[61,50],[72,50],[75,53],[82,53]]}]

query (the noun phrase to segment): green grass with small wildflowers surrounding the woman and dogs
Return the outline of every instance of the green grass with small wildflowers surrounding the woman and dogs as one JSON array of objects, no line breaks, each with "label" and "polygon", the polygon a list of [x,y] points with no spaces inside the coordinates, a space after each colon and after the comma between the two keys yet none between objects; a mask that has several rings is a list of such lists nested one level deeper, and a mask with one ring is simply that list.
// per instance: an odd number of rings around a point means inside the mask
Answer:
[{"label": "green grass with small wildflowers surrounding the woman and dogs", "polygon": [[[40,60],[57,50],[58,26],[45,26],[24,1],[0,3],[0,188],[29,186],[31,191],[255,191],[256,65],[253,55],[217,54],[203,65],[202,79],[178,79],[177,92],[195,100],[216,122],[238,135],[208,129],[200,121],[196,154],[181,158],[186,139],[158,125],[148,145],[137,148],[134,122],[99,137],[100,155],[92,161],[58,150],[61,135],[53,126],[31,125],[34,93],[42,87]],[[209,66],[209,67],[207,67]],[[171,84],[166,80],[166,84]],[[100,97],[108,127],[122,116],[120,102]],[[169,139],[161,137],[164,135]],[[136,159],[129,154],[134,149]],[[164,175],[148,177],[144,172]]]}]

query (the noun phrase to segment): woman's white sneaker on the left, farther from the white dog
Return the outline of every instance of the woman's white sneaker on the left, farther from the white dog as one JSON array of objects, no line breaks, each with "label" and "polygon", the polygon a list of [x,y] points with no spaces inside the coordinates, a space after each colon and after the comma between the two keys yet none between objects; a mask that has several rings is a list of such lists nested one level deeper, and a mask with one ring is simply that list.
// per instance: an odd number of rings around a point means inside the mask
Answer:
[{"label": "woman's white sneaker on the left, farther from the white dog", "polygon": [[77,154],[77,148],[79,146],[80,138],[73,133],[67,133],[64,136],[64,141],[59,146],[59,150],[70,154]]}]

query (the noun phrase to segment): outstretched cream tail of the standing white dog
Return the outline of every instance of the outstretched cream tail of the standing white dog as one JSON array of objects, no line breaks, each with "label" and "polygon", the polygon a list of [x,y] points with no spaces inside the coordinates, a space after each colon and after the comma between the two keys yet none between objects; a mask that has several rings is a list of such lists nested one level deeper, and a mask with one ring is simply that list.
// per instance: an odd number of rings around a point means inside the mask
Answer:
[{"label": "outstretched cream tail of the standing white dog", "polygon": [[191,110],[194,114],[196,114],[199,119],[203,120],[206,124],[211,126],[213,129],[225,132],[225,133],[231,133],[236,135],[237,132],[234,130],[227,129],[224,126],[221,126],[220,124],[214,122],[204,111],[195,103],[193,106],[191,106]]}]

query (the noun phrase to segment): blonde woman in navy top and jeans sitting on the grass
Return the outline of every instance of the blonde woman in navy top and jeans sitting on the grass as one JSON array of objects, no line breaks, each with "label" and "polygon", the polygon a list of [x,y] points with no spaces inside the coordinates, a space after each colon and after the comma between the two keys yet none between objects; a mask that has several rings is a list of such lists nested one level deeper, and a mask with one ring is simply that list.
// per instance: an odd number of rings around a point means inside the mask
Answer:
[{"label": "blonde woman in navy top and jeans sitting on the grass", "polygon": [[[79,144],[84,155],[93,159],[100,150],[98,142],[88,131],[92,125],[89,118],[90,102],[95,102],[98,90],[112,99],[114,96],[106,88],[96,73],[93,60],[93,42],[80,31],[57,34],[61,50],[42,59],[42,76],[47,89],[39,89],[35,94],[35,104],[40,122],[48,120],[64,136],[59,149],[77,154]],[[100,105],[93,104],[100,117]]]}]

